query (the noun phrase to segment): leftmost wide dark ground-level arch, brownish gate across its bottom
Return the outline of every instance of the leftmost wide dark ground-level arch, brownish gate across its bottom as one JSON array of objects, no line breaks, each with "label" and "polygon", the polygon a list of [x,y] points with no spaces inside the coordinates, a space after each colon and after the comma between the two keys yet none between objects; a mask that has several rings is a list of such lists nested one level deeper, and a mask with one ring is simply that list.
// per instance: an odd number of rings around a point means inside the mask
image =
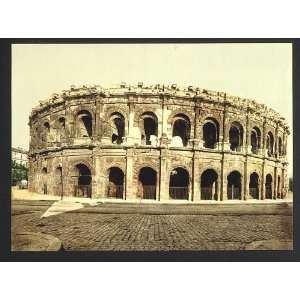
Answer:
[{"label": "leftmost wide dark ground-level arch, brownish gate across its bottom", "polygon": [[75,197],[87,197],[92,196],[92,174],[90,169],[84,164],[78,164],[75,166],[77,185],[75,185]]}]

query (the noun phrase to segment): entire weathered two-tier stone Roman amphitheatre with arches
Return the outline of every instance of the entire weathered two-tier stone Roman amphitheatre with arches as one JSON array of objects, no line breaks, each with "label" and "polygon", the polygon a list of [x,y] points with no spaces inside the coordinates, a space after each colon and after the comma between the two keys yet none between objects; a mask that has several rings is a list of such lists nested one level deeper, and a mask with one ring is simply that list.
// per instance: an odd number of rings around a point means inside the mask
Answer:
[{"label": "entire weathered two-tier stone Roman amphitheatre with arches", "polygon": [[285,198],[289,127],[253,100],[195,87],[71,87],[30,116],[29,189],[186,201]]}]

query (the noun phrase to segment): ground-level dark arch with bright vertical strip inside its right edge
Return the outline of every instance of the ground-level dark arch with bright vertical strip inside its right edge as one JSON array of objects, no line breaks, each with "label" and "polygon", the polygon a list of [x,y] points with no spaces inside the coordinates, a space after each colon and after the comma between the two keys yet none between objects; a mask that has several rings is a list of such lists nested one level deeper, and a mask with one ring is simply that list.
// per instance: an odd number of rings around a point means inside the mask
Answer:
[{"label": "ground-level dark arch with bright vertical strip inside its right edge", "polygon": [[213,169],[208,169],[201,175],[201,199],[218,199],[218,174]]}]

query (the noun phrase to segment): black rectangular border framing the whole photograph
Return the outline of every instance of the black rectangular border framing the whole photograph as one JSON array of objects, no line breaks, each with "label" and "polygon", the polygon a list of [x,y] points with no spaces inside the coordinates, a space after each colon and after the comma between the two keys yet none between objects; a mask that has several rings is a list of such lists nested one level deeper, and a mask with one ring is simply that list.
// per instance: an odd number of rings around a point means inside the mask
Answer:
[{"label": "black rectangular border framing the whole photograph", "polygon": [[[294,137],[294,250],[293,251],[10,251],[10,164],[11,164],[11,45],[12,44],[136,44],[136,43],[292,43],[293,44],[293,137]],[[270,53],[270,55],[272,55]],[[298,195],[297,132],[300,132],[300,39],[0,39],[0,261],[300,261],[300,205]],[[298,100],[299,99],[299,100]],[[298,101],[297,101],[298,100]]]}]

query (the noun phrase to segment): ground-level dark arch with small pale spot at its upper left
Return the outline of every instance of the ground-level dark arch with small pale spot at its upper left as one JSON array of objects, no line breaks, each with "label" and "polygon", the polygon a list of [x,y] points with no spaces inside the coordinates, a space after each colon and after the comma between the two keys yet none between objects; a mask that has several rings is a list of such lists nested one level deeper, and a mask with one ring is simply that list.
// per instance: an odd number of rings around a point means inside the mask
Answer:
[{"label": "ground-level dark arch with small pale spot at its upper left", "polygon": [[171,171],[169,195],[171,199],[189,199],[189,173],[187,170],[176,168]]}]

